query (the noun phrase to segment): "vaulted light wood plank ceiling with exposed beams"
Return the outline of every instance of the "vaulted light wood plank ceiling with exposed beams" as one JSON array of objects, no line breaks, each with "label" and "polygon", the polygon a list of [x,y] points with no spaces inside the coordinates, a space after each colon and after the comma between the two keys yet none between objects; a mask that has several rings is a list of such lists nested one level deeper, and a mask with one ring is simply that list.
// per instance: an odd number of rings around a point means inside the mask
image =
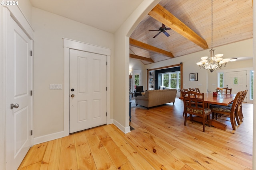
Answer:
[{"label": "vaulted light wood plank ceiling with exposed beams", "polygon": [[[252,0],[162,0],[130,36],[131,58],[144,64],[252,38]],[[169,37],[160,33],[166,25]]]}]

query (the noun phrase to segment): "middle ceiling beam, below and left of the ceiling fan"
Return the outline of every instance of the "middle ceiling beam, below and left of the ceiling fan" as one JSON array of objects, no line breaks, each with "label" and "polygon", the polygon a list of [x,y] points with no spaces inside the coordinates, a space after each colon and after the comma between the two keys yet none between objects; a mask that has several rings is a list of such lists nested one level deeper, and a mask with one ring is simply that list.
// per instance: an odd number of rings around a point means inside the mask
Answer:
[{"label": "middle ceiling beam, below and left of the ceiling fan", "polygon": [[141,49],[145,49],[145,50],[148,50],[148,51],[152,51],[154,53],[160,53],[160,54],[165,55],[167,57],[174,58],[174,55],[172,55],[172,53],[169,52],[169,51],[159,49],[157,47],[154,47],[152,45],[148,45],[146,43],[142,43],[142,42],[137,41],[137,40],[132,39],[132,38],[130,38],[130,45],[132,45],[134,47],[141,48]]}]

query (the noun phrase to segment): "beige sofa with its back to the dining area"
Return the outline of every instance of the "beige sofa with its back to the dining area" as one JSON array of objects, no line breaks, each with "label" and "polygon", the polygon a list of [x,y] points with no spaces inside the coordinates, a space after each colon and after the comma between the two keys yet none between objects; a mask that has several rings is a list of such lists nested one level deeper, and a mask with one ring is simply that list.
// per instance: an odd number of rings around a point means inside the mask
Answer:
[{"label": "beige sofa with its back to the dining area", "polygon": [[164,90],[148,90],[144,96],[137,96],[135,98],[136,106],[149,107],[158,106],[172,102],[174,104],[177,94],[177,89]]}]

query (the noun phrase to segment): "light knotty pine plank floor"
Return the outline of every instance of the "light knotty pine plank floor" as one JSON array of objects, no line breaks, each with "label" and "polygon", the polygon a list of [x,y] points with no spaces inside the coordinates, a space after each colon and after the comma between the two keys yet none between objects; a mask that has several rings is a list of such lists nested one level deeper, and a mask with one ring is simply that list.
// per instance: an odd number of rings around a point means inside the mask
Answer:
[{"label": "light knotty pine plank floor", "polygon": [[34,145],[19,170],[247,170],[252,169],[252,104],[244,121],[226,131],[187,121],[176,98],[149,110],[131,109],[134,127],[124,134],[104,125]]}]

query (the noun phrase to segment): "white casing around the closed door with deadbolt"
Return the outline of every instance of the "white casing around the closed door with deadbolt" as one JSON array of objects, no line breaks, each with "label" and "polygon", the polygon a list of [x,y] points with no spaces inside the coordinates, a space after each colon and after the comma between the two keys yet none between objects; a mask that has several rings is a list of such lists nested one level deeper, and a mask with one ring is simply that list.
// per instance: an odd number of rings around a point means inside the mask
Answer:
[{"label": "white casing around the closed door with deadbolt", "polygon": [[70,92],[70,82],[69,82],[69,50],[76,49],[80,51],[86,51],[89,53],[97,53],[101,55],[106,55],[107,57],[107,124],[113,123],[110,120],[110,53],[111,50],[105,47],[99,47],[96,45],[91,45],[71,39],[63,38],[64,47],[64,137],[69,135],[69,92]]}]

